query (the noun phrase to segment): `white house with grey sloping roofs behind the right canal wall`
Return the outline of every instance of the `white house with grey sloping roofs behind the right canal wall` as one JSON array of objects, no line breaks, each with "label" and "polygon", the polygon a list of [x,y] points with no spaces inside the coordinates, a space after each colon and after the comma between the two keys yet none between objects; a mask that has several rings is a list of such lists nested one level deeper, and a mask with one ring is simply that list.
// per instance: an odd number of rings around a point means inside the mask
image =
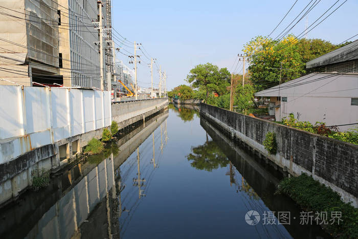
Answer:
[{"label": "white house with grey sloping roofs behind the right canal wall", "polygon": [[310,73],[255,96],[270,97],[269,113],[276,121],[290,113],[300,121],[339,126],[341,131],[358,124],[358,40],[306,63]]}]

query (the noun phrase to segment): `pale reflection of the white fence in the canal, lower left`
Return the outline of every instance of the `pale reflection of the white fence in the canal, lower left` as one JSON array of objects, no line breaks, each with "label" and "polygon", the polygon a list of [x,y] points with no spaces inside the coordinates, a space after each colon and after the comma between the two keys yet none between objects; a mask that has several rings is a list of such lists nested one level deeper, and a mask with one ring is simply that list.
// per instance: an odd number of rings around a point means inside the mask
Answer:
[{"label": "pale reflection of the white fence in the canal, lower left", "polygon": [[[80,167],[79,172],[85,169]],[[65,177],[70,184],[73,183],[71,174]],[[69,192],[44,213],[27,237],[70,238],[86,220],[89,212],[108,195],[114,183],[113,156],[111,156],[83,176]],[[107,223],[110,225],[110,221]],[[107,229],[110,233],[110,227]]]}]

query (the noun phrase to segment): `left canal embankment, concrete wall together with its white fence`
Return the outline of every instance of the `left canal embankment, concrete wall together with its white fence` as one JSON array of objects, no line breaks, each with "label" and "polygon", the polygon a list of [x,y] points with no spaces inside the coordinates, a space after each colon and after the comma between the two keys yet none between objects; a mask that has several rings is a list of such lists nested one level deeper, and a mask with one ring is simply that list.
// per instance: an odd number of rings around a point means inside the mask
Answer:
[{"label": "left canal embankment, concrete wall together with its white fence", "polygon": [[72,162],[112,120],[123,128],[167,104],[167,98],[111,104],[106,91],[1,85],[0,204],[31,185],[34,169],[56,171]]}]

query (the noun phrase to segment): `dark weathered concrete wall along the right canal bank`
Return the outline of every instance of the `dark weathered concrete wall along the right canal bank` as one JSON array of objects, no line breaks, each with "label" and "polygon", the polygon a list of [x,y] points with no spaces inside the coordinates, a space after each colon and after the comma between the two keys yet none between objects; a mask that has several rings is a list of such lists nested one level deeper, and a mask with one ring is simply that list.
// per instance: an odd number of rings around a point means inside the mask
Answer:
[{"label": "dark weathered concrete wall along the right canal bank", "polygon": [[[292,175],[306,172],[358,206],[358,146],[201,103],[200,115],[243,141]],[[274,132],[277,154],[263,146]]]}]

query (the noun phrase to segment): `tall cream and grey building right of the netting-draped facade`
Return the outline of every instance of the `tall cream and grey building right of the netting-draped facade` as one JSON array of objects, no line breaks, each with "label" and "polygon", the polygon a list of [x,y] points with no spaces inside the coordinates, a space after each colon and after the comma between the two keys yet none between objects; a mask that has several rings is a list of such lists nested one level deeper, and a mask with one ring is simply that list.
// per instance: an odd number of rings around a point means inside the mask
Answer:
[{"label": "tall cream and grey building right of the netting-draped facade", "polygon": [[[95,29],[99,21],[99,4],[102,4],[103,28],[110,29],[110,1],[97,0],[59,0],[59,54],[61,74],[65,86],[84,86],[101,88],[101,70],[104,81],[110,71],[111,37],[107,30],[103,32],[104,67],[100,69],[99,30]],[[106,82],[104,82],[106,84]],[[104,88],[106,89],[106,88]]]}]

